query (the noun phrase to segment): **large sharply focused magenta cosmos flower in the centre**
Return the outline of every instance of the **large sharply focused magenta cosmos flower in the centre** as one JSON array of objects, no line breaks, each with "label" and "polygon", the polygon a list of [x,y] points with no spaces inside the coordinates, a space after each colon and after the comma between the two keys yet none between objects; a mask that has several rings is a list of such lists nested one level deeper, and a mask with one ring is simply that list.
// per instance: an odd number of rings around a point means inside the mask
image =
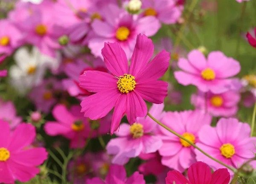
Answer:
[{"label": "large sharply focused magenta cosmos flower in the centre", "polygon": [[136,117],[146,115],[147,106],[143,99],[155,104],[163,103],[167,96],[167,83],[157,79],[166,72],[170,53],[162,51],[149,62],[153,52],[152,40],[139,34],[129,69],[125,51],[120,44],[105,43],[102,55],[106,67],[113,75],[85,71],[79,77],[81,88],[96,93],[81,102],[84,116],[99,119],[115,107],[111,123],[113,134],[125,114],[131,125]]}]

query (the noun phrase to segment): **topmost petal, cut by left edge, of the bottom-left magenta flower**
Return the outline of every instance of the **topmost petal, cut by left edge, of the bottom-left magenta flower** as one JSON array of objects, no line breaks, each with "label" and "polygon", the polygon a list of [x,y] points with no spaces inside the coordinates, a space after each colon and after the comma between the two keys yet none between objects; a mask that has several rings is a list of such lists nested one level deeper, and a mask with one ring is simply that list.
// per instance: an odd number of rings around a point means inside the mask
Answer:
[{"label": "topmost petal, cut by left edge, of the bottom-left magenta flower", "polygon": [[10,137],[10,125],[8,122],[3,121],[0,119],[0,147],[7,147],[9,144],[9,137]]}]

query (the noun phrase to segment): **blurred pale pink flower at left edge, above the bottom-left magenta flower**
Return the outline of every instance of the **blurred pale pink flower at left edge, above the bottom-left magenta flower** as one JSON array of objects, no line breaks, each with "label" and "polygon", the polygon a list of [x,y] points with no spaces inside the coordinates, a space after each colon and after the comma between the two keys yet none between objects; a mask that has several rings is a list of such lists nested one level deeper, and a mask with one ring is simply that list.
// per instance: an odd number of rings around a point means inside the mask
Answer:
[{"label": "blurred pale pink flower at left edge, above the bottom-left magenta flower", "polygon": [[14,129],[22,121],[20,116],[17,116],[15,105],[12,101],[3,102],[0,100],[0,119],[9,123],[10,129]]}]

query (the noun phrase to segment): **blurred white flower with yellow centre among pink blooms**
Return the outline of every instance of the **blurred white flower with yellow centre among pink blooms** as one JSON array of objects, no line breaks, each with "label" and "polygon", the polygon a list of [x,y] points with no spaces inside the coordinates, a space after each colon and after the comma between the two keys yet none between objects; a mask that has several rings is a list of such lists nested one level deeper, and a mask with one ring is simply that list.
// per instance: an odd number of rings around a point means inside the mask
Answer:
[{"label": "blurred white flower with yellow centre among pink blooms", "polygon": [[44,78],[47,68],[46,57],[37,48],[19,48],[14,54],[17,65],[12,65],[9,71],[10,83],[17,91],[24,95],[35,85],[39,85]]}]

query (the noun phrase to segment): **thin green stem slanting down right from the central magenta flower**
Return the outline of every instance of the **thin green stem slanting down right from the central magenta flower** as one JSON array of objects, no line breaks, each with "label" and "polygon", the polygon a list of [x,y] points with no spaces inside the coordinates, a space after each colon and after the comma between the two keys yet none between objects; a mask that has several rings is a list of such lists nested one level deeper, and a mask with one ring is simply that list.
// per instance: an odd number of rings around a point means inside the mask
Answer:
[{"label": "thin green stem slanting down right from the central magenta flower", "polygon": [[194,143],[190,142],[188,139],[184,138],[183,136],[181,136],[180,134],[176,133],[176,132],[173,131],[172,129],[166,127],[166,125],[163,125],[163,123],[159,122],[157,119],[155,119],[153,116],[151,116],[150,113],[147,113],[147,115],[148,115],[151,119],[153,119],[155,122],[157,122],[158,125],[164,127],[166,130],[168,130],[169,132],[173,133],[175,136],[178,136],[180,139],[183,139],[184,141],[188,142],[188,143],[191,144],[193,147],[195,147],[195,149],[197,149],[197,150],[199,150],[201,153],[203,153],[205,156],[209,157],[210,159],[212,159],[212,160],[218,162],[219,164],[221,164],[221,165],[227,167],[228,169],[232,170],[233,172],[235,172],[235,170],[234,170],[232,167],[230,167],[230,166],[228,166],[227,164],[224,164],[223,162],[221,162],[221,161],[219,161],[219,160],[213,158],[212,156],[208,155],[208,154],[205,153],[203,150],[201,150],[198,146],[196,146]]}]

